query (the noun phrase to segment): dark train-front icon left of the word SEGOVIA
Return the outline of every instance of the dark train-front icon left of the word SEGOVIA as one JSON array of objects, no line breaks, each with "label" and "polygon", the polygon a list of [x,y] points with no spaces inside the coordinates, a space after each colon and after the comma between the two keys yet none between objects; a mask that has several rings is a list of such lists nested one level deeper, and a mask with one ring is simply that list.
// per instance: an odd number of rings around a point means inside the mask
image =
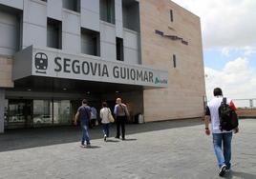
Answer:
[{"label": "dark train-front icon left of the word SEGOVIA", "polygon": [[43,52],[37,52],[34,55],[34,66],[36,73],[44,73],[46,74],[46,70],[48,67],[48,57]]}]

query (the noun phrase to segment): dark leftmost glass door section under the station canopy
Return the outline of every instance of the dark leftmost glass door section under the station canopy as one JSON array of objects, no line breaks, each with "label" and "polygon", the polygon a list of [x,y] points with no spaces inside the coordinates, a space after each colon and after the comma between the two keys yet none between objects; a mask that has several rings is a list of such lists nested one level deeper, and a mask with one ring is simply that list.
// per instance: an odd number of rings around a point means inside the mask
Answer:
[{"label": "dark leftmost glass door section under the station canopy", "polygon": [[32,127],[32,100],[10,99],[8,109],[8,129]]}]

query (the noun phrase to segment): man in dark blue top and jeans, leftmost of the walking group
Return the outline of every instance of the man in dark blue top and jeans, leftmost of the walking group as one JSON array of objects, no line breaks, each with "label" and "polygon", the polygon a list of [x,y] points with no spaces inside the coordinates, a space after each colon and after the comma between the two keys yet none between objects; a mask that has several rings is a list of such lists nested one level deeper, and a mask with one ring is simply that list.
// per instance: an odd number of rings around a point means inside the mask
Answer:
[{"label": "man in dark blue top and jeans, leftmost of the walking group", "polygon": [[[91,119],[91,109],[88,106],[88,102],[86,99],[82,100],[82,106],[77,109],[75,114],[75,126],[77,125],[77,120],[80,120],[80,125],[82,129],[82,139],[81,139],[81,147],[90,147],[90,137],[88,132],[89,121]],[[86,141],[86,145],[84,144]]]}]

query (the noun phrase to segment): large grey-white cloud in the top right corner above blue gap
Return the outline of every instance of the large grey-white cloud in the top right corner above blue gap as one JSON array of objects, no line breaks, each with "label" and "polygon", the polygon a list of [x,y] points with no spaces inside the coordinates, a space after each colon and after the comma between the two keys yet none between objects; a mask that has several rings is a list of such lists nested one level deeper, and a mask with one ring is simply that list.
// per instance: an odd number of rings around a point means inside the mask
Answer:
[{"label": "large grey-white cloud in the top right corner above blue gap", "polygon": [[255,0],[173,0],[201,18],[203,47],[256,46]]}]

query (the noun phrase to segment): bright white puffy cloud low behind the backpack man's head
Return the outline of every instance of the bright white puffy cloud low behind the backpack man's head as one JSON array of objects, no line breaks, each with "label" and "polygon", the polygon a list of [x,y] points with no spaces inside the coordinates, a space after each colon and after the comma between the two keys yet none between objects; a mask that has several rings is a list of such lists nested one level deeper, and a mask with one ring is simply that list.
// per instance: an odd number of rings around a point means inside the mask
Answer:
[{"label": "bright white puffy cloud low behind the backpack man's head", "polygon": [[256,98],[256,70],[246,58],[237,58],[225,64],[222,70],[204,68],[207,99],[213,89],[220,87],[224,96],[236,99]]}]

